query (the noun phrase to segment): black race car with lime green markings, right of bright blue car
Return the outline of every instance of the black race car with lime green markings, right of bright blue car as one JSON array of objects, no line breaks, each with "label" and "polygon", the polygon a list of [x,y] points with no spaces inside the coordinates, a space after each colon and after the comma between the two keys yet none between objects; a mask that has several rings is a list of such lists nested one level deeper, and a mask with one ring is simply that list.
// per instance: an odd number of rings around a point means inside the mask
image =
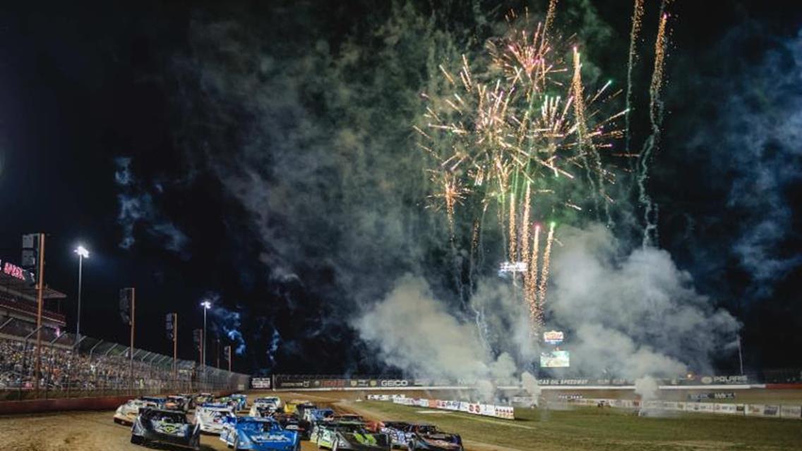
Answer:
[{"label": "black race car with lime green markings, right of bright blue car", "polygon": [[371,433],[358,421],[321,422],[314,425],[310,441],[332,451],[389,451],[390,437]]}]

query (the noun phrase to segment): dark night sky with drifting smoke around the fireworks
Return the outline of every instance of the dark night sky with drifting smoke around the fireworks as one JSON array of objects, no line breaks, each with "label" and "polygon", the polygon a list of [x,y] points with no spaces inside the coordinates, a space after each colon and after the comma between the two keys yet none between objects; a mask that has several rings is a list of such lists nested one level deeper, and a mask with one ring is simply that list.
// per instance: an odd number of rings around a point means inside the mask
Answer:
[{"label": "dark night sky with drifting smoke around the fireworks", "polygon": [[[72,329],[71,250],[85,244],[90,336],[127,340],[117,292],[136,286],[148,350],[169,352],[176,311],[193,358],[198,304],[212,299],[224,344],[240,344],[233,330],[245,342],[239,371],[387,371],[353,312],[406,272],[449,292],[448,240],[422,232],[442,218],[423,208],[410,156],[439,38],[415,36],[448,30],[476,48],[521,3],[225,3],[0,8],[0,257],[47,232],[47,282],[69,296]],[[748,368],[802,366],[802,6],[675,3],[650,179],[660,247],[743,323]],[[563,5],[589,57],[625,79],[631,2]],[[400,218],[407,238],[364,225],[377,217]],[[632,221],[621,235],[634,242]]]}]

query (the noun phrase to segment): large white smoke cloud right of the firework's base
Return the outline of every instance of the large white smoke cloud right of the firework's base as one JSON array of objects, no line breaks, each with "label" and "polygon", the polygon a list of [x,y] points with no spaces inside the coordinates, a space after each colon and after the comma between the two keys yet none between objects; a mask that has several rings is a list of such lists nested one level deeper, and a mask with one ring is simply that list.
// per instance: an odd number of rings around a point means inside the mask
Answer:
[{"label": "large white smoke cloud right of the firework's base", "polygon": [[627,254],[601,226],[563,228],[560,236],[549,313],[574,333],[565,346],[574,371],[628,378],[705,371],[735,339],[735,318],[695,292],[668,252]]}]

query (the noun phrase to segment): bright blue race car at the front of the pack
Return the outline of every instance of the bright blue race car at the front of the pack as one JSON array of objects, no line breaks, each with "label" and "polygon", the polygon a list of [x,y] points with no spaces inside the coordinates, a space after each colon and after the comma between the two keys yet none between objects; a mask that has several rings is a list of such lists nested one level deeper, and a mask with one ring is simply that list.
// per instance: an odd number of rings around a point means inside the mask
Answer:
[{"label": "bright blue race car at the front of the pack", "polygon": [[301,439],[271,418],[228,417],[220,440],[233,449],[300,451]]}]

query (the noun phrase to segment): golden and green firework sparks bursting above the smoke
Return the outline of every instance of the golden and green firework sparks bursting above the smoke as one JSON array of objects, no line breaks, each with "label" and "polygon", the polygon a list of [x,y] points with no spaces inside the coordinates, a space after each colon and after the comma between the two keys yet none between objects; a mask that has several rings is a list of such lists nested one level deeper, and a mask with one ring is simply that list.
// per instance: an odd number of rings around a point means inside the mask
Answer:
[{"label": "golden and green firework sparks bursting above the smoke", "polygon": [[[487,42],[487,65],[476,66],[463,55],[456,64],[437,66],[441,83],[435,83],[437,93],[422,96],[425,123],[415,127],[431,161],[435,193],[429,199],[447,212],[452,244],[457,230],[471,230],[466,260],[480,261],[474,253],[483,249],[485,219],[496,219],[492,230],[506,259],[500,272],[509,272],[513,286],[522,287],[533,336],[545,321],[551,252],[559,244],[553,220],[586,216],[614,226],[608,192],[616,179],[607,162],[614,142],[628,135],[619,121],[628,124],[630,112],[629,104],[615,107],[622,90],[613,89],[612,80],[585,86],[582,54],[577,46],[571,51],[555,30],[557,3],[549,1],[545,22],[508,14],[508,33]],[[627,103],[643,7],[643,0],[635,0]],[[666,41],[663,21],[650,90],[653,112],[662,108]],[[550,224],[545,240],[538,223]],[[480,274],[474,268],[467,273]]]}]

